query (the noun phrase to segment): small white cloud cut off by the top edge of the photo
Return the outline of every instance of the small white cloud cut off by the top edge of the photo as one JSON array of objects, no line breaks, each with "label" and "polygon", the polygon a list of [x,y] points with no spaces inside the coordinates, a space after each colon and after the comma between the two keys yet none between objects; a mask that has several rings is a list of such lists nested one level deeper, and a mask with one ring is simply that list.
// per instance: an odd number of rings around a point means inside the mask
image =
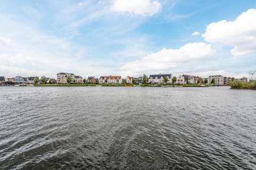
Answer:
[{"label": "small white cloud cut off by the top edge of the photo", "polygon": [[152,16],[161,10],[161,4],[151,0],[114,0],[111,10],[131,15]]}]

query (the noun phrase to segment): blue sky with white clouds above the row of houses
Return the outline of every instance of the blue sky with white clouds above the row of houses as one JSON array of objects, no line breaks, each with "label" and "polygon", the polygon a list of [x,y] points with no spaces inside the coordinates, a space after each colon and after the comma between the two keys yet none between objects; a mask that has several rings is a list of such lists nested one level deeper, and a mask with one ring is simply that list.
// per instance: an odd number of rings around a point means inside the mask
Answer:
[{"label": "blue sky with white clouds above the row of houses", "polygon": [[0,76],[255,69],[255,0],[0,0]]}]

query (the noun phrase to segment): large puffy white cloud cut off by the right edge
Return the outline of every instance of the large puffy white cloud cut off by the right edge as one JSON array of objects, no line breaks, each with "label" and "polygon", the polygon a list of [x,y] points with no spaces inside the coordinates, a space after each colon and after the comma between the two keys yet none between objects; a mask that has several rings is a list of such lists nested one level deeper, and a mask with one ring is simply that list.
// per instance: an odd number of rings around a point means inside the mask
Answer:
[{"label": "large puffy white cloud cut off by the right edge", "polygon": [[233,46],[234,56],[246,56],[256,49],[256,10],[250,9],[235,21],[222,20],[207,26],[204,37],[211,43]]}]

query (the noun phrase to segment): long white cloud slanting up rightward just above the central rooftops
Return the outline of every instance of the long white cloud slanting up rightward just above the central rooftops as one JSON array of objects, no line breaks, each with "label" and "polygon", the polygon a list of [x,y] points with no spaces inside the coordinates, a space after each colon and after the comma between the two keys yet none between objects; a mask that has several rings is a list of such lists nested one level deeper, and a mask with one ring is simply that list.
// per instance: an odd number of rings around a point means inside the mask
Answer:
[{"label": "long white cloud slanting up rightward just above the central rooftops", "polygon": [[207,60],[215,54],[210,44],[188,43],[179,49],[166,49],[149,54],[144,58],[124,64],[120,68],[121,75],[142,75],[159,72],[172,72],[189,62]]}]

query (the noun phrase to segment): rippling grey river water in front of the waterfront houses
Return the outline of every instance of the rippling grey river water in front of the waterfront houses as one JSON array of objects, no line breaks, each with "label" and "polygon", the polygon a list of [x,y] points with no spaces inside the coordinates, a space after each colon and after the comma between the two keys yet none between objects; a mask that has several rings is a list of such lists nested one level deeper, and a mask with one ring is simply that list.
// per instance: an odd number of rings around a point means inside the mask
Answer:
[{"label": "rippling grey river water in front of the waterfront houses", "polygon": [[256,91],[0,86],[0,169],[256,169]]}]

